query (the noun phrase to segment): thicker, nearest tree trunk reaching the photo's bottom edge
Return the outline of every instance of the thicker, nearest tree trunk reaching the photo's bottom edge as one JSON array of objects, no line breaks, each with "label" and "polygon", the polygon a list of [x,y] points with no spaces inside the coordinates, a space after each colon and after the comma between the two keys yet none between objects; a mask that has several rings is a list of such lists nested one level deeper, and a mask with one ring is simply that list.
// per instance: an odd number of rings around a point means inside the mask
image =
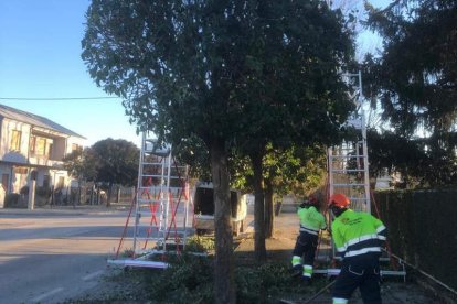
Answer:
[{"label": "thicker, nearest tree trunk reaching the photo's bottom edge", "polygon": [[221,304],[235,303],[228,164],[224,142],[212,142],[210,151],[215,227],[214,298]]}]

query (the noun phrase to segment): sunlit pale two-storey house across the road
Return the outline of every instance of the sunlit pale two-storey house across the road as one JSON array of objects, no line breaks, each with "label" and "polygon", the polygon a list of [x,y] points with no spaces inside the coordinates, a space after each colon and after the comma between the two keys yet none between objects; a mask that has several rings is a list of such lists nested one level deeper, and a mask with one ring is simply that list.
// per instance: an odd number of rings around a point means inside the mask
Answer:
[{"label": "sunlit pale two-storey house across the road", "polygon": [[31,178],[36,187],[65,187],[62,159],[83,149],[85,138],[47,118],[0,105],[0,207]]}]

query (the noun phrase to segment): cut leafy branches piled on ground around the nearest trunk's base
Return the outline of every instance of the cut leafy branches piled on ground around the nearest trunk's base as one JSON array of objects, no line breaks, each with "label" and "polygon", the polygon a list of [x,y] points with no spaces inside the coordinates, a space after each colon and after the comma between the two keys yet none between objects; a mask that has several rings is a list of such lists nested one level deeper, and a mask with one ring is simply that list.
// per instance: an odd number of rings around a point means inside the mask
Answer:
[{"label": "cut leafy branches piled on ground around the nearest trunk's base", "polygon": [[[149,298],[155,303],[214,303],[214,260],[208,257],[167,256],[170,267],[146,275]],[[277,303],[284,294],[306,293],[286,263],[236,267],[237,303]]]}]

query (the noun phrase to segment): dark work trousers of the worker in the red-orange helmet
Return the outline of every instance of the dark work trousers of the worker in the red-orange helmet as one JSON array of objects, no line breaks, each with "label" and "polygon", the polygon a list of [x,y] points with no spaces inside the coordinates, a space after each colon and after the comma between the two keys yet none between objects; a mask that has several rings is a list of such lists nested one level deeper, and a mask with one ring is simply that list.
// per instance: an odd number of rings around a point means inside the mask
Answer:
[{"label": "dark work trousers of the worker in the red-orange helmet", "polygon": [[382,303],[379,258],[378,253],[344,258],[341,272],[334,283],[332,296],[349,300],[354,290],[359,287],[363,303]]}]

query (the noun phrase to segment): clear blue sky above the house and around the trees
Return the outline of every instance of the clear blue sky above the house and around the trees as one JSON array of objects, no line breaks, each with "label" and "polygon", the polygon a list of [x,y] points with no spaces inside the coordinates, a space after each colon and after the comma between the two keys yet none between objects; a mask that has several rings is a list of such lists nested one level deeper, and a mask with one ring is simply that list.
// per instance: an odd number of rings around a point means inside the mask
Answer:
[{"label": "clear blue sky above the house and around the trees", "polygon": [[[106,138],[139,145],[136,128],[129,124],[118,98],[4,99],[108,97],[81,59],[88,6],[88,0],[0,0],[0,104],[46,117],[87,138],[87,145]],[[360,43],[379,46],[371,35]]]}]

